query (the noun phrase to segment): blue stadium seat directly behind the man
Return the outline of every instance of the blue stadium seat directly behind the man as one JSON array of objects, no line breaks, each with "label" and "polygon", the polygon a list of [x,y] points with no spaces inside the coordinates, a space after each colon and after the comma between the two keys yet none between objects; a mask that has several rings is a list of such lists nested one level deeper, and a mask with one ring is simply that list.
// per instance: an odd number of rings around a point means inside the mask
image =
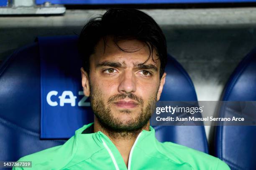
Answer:
[{"label": "blue stadium seat directly behind the man", "polygon": [[[41,41],[41,42],[40,42]],[[0,160],[18,160],[25,155],[63,144],[65,139],[40,138],[41,84],[40,45],[52,54],[64,44],[60,55],[70,57],[76,49],[77,37],[59,36],[39,38],[38,41],[16,50],[0,67]],[[70,47],[70,49],[69,49]],[[57,50],[57,51],[54,51]],[[73,52],[77,54],[77,51]],[[52,56],[54,57],[54,56]],[[70,57],[73,60],[74,57]],[[194,86],[187,72],[169,56],[167,77],[161,100],[196,101]],[[77,81],[75,83],[81,83]],[[93,121],[92,117],[84,117]],[[160,141],[172,141],[207,153],[203,126],[154,127]]]}]

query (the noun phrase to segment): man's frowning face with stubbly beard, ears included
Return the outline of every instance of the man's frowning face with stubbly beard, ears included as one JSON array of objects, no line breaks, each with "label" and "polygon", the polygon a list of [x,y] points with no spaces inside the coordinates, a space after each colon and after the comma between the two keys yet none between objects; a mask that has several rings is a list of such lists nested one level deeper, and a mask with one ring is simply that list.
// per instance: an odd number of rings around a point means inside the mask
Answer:
[{"label": "man's frowning face with stubbly beard, ears included", "polygon": [[[91,97],[92,110],[105,128],[138,130],[148,123],[164,85],[159,78],[160,60],[149,55],[138,40],[121,40],[118,46],[108,37],[98,42],[90,57],[90,78],[82,70],[84,94]],[[142,64],[144,63],[144,64]]]}]

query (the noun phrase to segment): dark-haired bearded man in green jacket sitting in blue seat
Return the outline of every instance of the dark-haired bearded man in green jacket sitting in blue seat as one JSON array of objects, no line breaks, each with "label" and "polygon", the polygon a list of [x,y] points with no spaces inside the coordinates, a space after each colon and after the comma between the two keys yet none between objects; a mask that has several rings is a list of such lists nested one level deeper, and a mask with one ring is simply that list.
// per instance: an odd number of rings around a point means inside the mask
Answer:
[{"label": "dark-haired bearded man in green jacket sitting in blue seat", "polygon": [[163,90],[167,52],[151,17],[139,10],[108,10],[84,26],[79,49],[94,123],[64,145],[19,161],[32,161],[32,169],[40,170],[229,169],[218,158],[156,140],[149,119]]}]

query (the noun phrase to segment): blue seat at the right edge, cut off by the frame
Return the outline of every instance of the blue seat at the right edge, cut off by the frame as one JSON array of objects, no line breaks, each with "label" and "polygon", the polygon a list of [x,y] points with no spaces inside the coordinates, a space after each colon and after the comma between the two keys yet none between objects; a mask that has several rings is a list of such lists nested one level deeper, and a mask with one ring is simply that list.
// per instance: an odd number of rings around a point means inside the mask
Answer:
[{"label": "blue seat at the right edge, cut off by the frame", "polygon": [[[256,49],[236,67],[223,92],[223,101],[256,100]],[[241,113],[236,103],[223,106],[219,117]],[[225,124],[224,124],[225,125]],[[216,126],[215,156],[233,170],[256,170],[256,127]]]}]

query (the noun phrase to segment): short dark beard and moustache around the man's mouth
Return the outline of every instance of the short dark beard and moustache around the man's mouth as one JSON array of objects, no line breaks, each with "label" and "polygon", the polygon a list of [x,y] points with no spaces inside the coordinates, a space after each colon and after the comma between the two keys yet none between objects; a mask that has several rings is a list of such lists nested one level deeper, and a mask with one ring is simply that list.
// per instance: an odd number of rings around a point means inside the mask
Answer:
[{"label": "short dark beard and moustache around the man's mouth", "polygon": [[[104,97],[97,87],[92,88],[92,86],[90,85],[90,94],[92,110],[97,117],[100,126],[113,137],[117,137],[117,134],[121,137],[138,135],[138,133],[140,133],[140,131],[147,125],[148,120],[151,118],[151,115],[156,108],[157,90],[156,92],[151,94],[150,100],[145,107],[145,103],[143,102],[141,97],[138,97],[132,93],[113,95],[109,97],[106,105],[104,104]],[[134,113],[133,111],[128,109],[119,110],[118,114],[131,115],[131,118],[129,120],[123,120],[122,116],[115,117],[115,115],[111,111],[110,106],[111,104],[113,104],[114,101],[123,100],[126,97],[131,100],[135,100],[141,106],[140,111],[137,113]]]}]

